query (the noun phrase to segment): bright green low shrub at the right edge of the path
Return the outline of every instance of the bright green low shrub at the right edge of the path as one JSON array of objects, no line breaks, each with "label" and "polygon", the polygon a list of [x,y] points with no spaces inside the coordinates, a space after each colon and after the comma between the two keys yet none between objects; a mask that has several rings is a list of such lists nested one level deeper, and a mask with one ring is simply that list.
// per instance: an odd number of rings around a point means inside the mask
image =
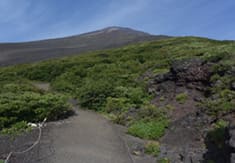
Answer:
[{"label": "bright green low shrub at the right edge of the path", "polygon": [[159,139],[164,135],[165,129],[168,125],[166,120],[162,121],[144,121],[140,120],[134,122],[129,128],[128,133],[144,139]]}]

